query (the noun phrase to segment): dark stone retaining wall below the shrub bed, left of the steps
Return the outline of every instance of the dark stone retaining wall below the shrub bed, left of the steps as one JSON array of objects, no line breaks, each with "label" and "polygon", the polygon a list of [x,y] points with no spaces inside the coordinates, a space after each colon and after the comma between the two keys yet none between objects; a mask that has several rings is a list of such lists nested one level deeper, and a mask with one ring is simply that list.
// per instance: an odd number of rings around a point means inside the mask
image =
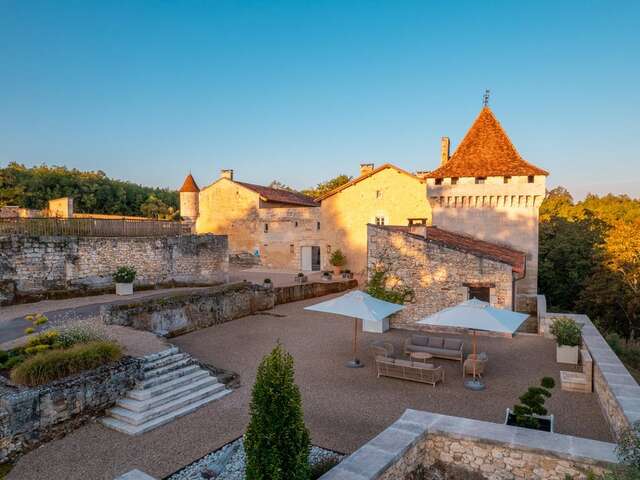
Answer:
[{"label": "dark stone retaining wall below the shrub bed, left of the steps", "polygon": [[101,415],[141,375],[142,361],[124,357],[39,387],[4,386],[0,393],[0,463]]}]

